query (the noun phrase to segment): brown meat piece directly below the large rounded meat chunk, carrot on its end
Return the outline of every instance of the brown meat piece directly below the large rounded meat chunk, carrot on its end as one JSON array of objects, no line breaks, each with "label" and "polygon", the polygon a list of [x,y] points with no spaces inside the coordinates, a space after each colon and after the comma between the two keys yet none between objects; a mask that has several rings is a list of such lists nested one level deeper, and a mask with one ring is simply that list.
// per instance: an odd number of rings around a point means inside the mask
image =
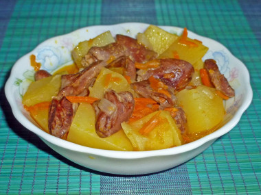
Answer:
[{"label": "brown meat piece directly below the large rounded meat chunk, carrot on its end", "polygon": [[131,87],[141,96],[157,101],[161,107],[173,107],[177,104],[177,99],[172,92],[169,92],[171,97],[157,92],[150,87],[150,81],[148,80],[131,83]]}]

